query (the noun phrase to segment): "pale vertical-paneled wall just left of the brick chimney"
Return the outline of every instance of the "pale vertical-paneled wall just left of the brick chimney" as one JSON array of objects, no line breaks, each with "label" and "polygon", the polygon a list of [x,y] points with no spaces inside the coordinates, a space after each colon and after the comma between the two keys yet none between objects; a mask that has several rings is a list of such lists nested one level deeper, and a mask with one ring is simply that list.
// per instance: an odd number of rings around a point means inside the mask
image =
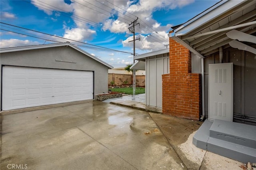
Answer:
[{"label": "pale vertical-paneled wall just left of the brick chimney", "polygon": [[168,53],[146,57],[146,105],[162,107],[162,75],[170,73]]}]

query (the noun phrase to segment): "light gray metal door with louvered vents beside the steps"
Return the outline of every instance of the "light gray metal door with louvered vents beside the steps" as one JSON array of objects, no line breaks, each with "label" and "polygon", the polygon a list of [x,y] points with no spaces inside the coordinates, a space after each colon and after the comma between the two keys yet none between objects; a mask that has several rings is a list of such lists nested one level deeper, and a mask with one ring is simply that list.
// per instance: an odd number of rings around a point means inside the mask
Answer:
[{"label": "light gray metal door with louvered vents beside the steps", "polygon": [[232,118],[233,63],[209,64],[209,120]]}]

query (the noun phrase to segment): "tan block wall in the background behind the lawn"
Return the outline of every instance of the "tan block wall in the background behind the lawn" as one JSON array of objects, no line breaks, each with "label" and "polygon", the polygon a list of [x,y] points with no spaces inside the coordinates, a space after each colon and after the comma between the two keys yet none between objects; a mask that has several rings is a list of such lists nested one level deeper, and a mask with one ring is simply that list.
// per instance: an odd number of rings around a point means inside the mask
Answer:
[{"label": "tan block wall in the background behind the lawn", "polygon": [[[114,85],[132,85],[133,79],[129,74],[108,73],[108,85],[111,85],[111,81]],[[127,84],[124,81],[127,81]],[[145,86],[145,75],[136,75],[136,86]]]}]

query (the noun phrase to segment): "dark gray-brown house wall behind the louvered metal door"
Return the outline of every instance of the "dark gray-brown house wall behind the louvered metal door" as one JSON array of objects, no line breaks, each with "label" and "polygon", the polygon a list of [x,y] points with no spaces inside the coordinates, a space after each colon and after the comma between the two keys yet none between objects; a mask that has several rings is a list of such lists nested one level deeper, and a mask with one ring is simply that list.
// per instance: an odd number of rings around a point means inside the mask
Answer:
[{"label": "dark gray-brown house wall behind the louvered metal door", "polygon": [[[252,45],[256,48],[256,45]],[[204,103],[208,117],[208,74],[209,64],[220,63],[219,54],[214,53],[204,59]],[[223,49],[223,63],[233,63],[233,121],[244,123],[245,119],[255,122],[256,117],[256,59],[253,53],[234,49]],[[247,124],[255,125],[248,120]]]}]

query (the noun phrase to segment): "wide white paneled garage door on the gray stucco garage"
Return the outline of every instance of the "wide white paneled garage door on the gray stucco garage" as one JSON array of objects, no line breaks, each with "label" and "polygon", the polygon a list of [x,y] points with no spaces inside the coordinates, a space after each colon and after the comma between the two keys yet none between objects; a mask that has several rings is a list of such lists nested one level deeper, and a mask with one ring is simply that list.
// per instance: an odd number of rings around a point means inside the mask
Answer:
[{"label": "wide white paneled garage door on the gray stucco garage", "polygon": [[93,99],[93,72],[4,66],[2,110]]}]

